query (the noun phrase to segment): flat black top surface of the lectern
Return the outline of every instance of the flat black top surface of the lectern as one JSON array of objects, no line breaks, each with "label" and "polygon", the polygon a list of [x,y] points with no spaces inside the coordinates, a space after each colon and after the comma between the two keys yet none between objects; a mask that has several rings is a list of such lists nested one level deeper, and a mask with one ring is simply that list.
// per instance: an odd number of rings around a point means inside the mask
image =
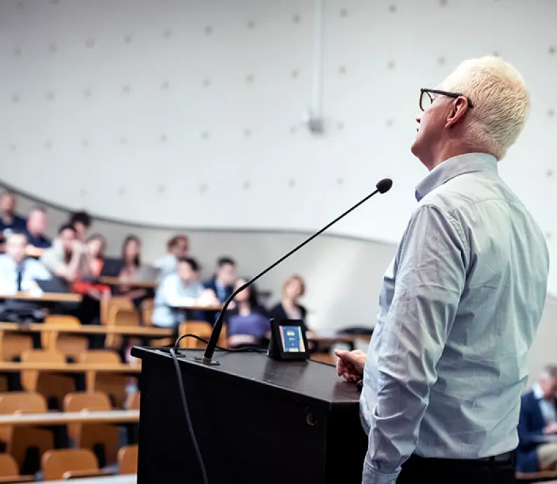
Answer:
[{"label": "flat black top surface of the lectern", "polygon": [[[144,362],[171,359],[162,348],[136,347],[132,355]],[[359,405],[356,386],[339,378],[333,366],[319,361],[275,361],[261,353],[217,351],[214,359],[219,361],[219,366],[206,366],[193,361],[200,356],[202,350],[179,350],[182,371],[207,372],[206,378],[238,378],[248,384],[259,383],[269,390],[289,392],[293,397],[301,396],[331,407]]]}]

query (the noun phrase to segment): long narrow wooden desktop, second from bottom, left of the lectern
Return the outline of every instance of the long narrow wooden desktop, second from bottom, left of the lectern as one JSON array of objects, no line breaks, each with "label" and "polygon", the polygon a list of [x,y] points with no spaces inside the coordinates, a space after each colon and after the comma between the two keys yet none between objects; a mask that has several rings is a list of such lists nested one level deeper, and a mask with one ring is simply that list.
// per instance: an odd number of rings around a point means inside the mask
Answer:
[{"label": "long narrow wooden desktop, second from bottom, left of the lectern", "polygon": [[139,410],[104,412],[15,413],[0,415],[0,425],[132,424],[139,422]]}]

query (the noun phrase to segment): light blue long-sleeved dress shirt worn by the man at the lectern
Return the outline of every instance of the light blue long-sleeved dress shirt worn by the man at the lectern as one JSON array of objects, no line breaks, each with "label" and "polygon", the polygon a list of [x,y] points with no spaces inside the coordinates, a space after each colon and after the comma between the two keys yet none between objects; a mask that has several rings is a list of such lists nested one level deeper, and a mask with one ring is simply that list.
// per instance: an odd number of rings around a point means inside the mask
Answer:
[{"label": "light blue long-sleeved dress shirt worn by the man at the lectern", "polygon": [[394,484],[412,453],[477,459],[516,448],[546,298],[544,236],[493,156],[446,160],[415,195],[364,371],[365,484]]}]

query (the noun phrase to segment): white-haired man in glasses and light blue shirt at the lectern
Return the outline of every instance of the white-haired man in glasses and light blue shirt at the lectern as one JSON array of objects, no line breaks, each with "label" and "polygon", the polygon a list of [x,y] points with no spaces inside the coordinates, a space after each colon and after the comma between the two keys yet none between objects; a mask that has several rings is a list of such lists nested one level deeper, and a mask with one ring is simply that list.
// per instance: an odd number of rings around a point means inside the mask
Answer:
[{"label": "white-haired man in glasses and light blue shirt at the lectern", "polygon": [[546,296],[542,231],[497,174],[530,107],[520,74],[468,60],[422,89],[411,151],[429,174],[383,279],[361,381],[365,484],[514,482],[516,426]]}]

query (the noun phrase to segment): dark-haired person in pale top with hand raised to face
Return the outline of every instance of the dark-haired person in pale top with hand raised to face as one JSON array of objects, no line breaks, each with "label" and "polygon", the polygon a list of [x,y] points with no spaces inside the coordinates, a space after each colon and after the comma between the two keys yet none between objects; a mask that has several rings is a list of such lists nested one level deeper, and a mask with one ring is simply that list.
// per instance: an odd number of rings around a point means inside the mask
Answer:
[{"label": "dark-haired person in pale top with hand raised to face", "polygon": [[76,229],[69,224],[60,227],[58,237],[43,252],[41,262],[53,275],[68,282],[90,275],[87,247],[77,239]]}]

